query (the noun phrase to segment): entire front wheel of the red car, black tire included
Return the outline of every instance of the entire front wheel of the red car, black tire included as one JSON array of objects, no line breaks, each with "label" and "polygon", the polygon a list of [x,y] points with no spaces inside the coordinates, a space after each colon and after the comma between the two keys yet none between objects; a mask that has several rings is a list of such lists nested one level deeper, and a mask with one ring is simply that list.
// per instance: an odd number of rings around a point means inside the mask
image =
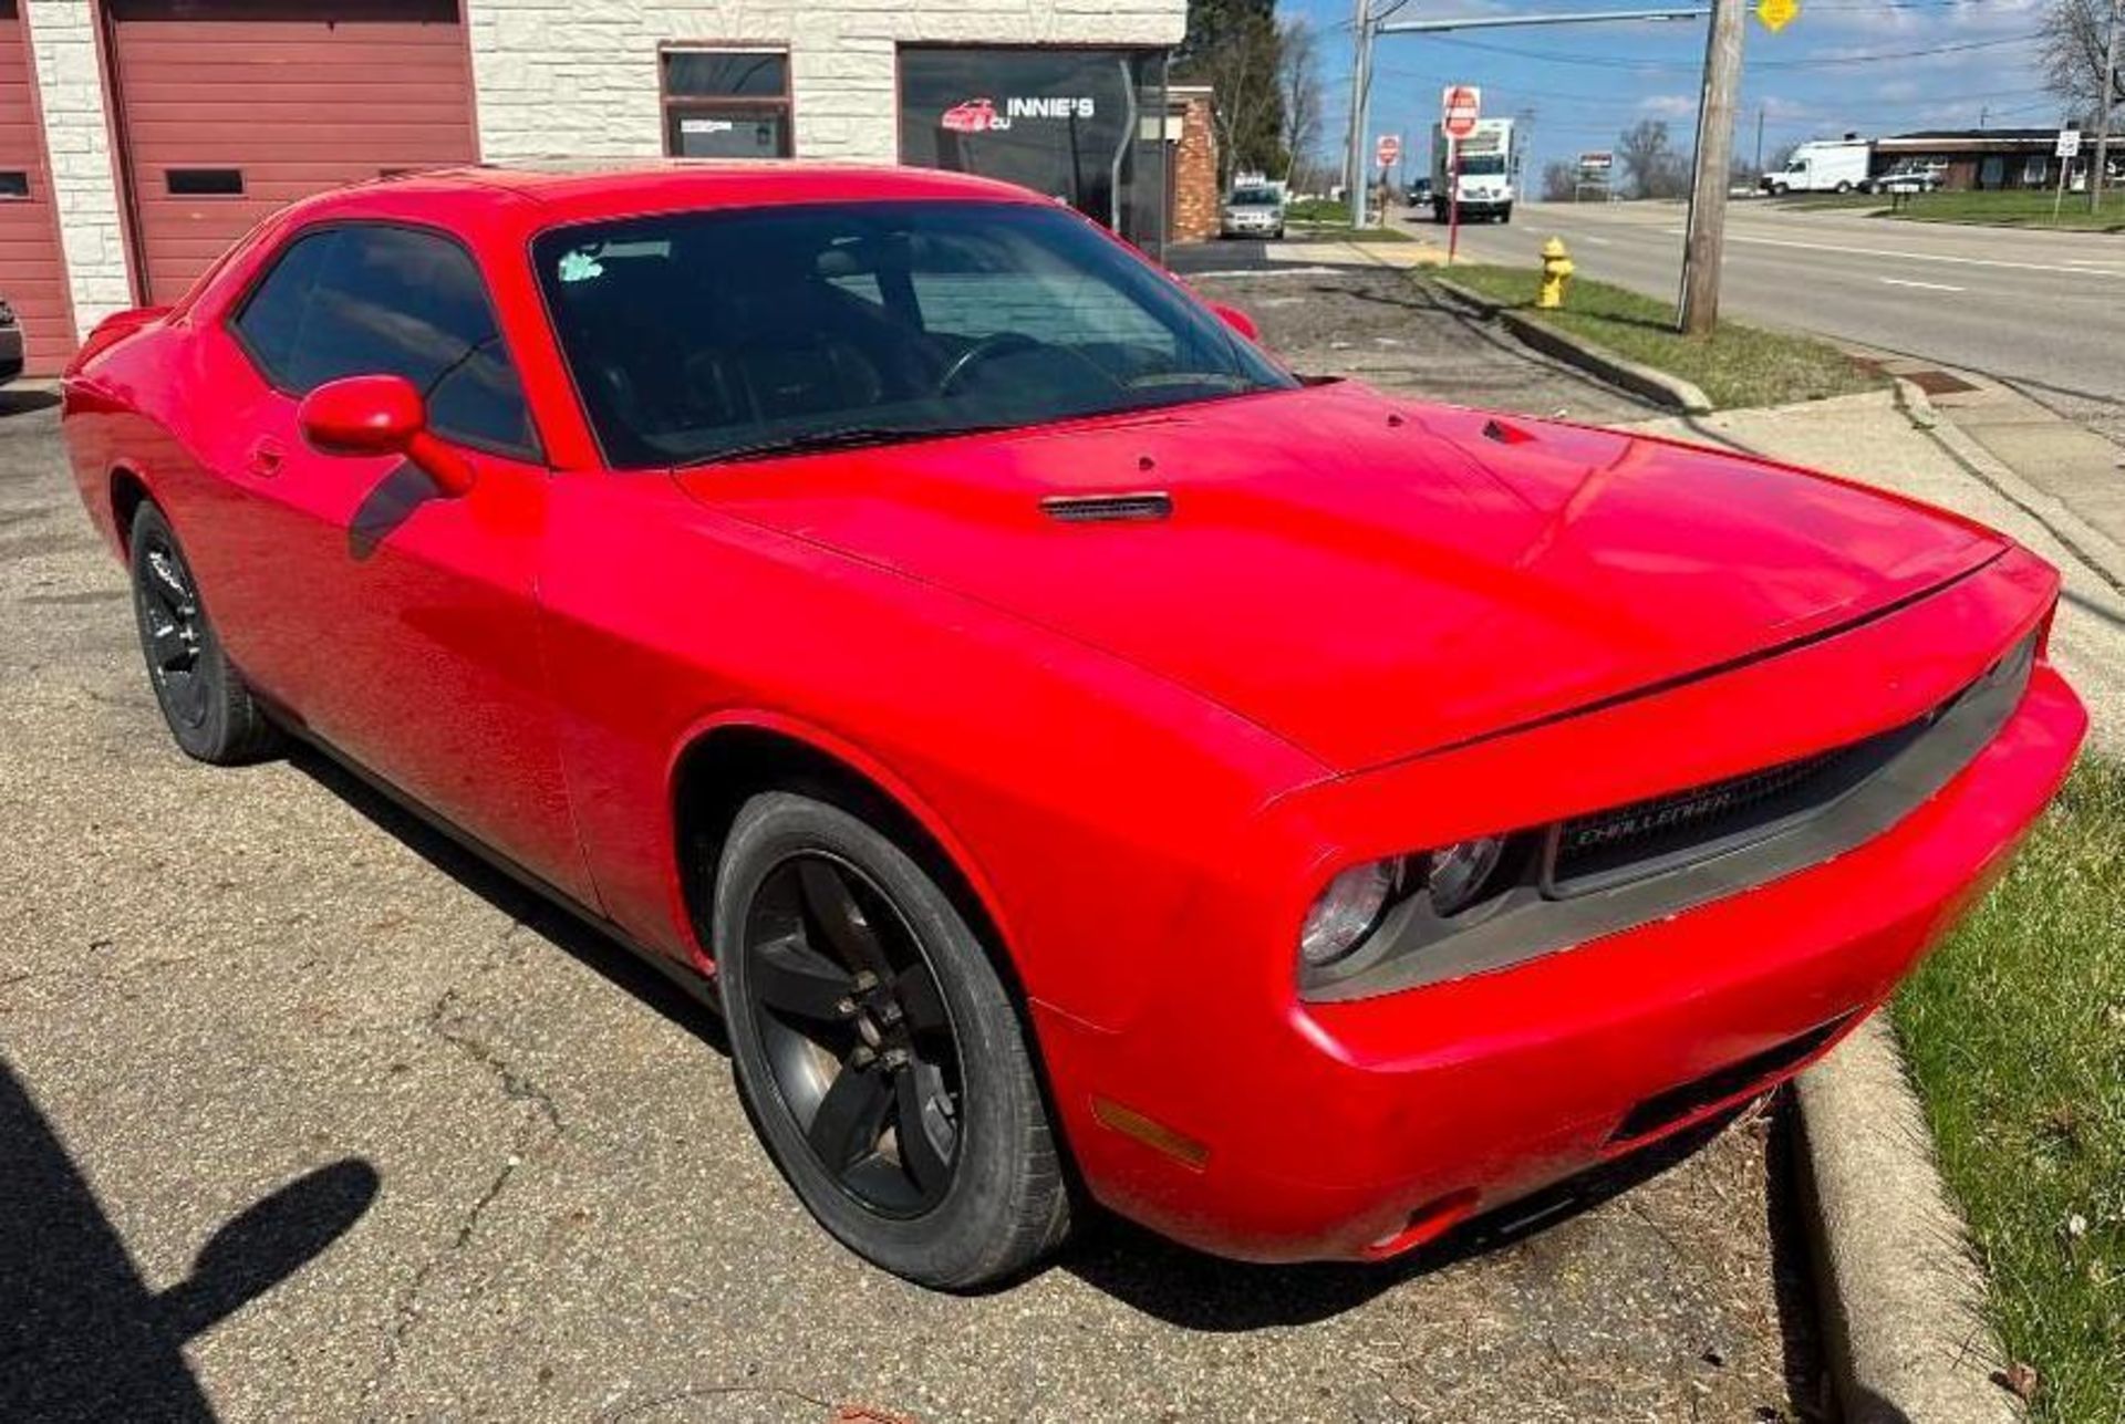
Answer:
[{"label": "entire front wheel of the red car, black tire included", "polygon": [[725,840],[714,944],[752,1122],[844,1245],[969,1290],[1062,1241],[1069,1190],[1018,1012],[901,846],[805,795],[752,797]]}]

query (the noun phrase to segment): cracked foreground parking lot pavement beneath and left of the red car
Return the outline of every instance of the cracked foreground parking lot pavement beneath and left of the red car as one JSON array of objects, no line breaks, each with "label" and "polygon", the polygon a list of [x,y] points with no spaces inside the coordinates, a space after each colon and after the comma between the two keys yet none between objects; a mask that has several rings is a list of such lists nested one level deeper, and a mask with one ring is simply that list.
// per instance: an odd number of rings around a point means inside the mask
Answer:
[{"label": "cracked foreground parking lot pavement beneath and left of the red car", "polygon": [[708,1014],[310,757],[176,755],[53,412],[19,406],[0,1418],[1794,1411],[1762,1122],[1386,1269],[1099,1220],[978,1299],[858,1265],[754,1148]]}]

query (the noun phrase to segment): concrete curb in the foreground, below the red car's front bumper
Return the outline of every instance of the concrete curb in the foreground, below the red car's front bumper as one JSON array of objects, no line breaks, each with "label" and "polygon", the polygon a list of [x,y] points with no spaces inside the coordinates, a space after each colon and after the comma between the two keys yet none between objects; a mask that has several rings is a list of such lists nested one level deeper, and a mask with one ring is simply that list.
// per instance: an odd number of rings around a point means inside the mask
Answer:
[{"label": "concrete curb in the foreground, below the red car's front bumper", "polygon": [[1985,1275],[1881,1016],[1796,1082],[1800,1209],[1847,1424],[2019,1424]]}]

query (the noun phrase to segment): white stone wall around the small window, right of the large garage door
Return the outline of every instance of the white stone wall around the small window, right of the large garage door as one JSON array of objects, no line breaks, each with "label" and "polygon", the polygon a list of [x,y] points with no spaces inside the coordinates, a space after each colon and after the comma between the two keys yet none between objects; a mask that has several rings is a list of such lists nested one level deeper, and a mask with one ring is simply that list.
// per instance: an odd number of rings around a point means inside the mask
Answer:
[{"label": "white stone wall around the small window, right of the large garage door", "polygon": [[1186,0],[465,0],[480,151],[525,157],[663,153],[657,47],[790,55],[797,157],[890,164],[895,47],[1179,45]]}]

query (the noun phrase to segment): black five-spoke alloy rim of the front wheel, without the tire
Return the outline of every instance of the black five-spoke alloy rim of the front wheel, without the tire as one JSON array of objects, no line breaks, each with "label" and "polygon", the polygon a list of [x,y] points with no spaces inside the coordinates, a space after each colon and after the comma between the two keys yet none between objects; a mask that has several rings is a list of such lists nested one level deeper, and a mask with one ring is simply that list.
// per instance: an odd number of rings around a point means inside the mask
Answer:
[{"label": "black five-spoke alloy rim of the front wheel, without the tire", "polygon": [[746,916],[748,1003],[776,1095],[818,1165],[880,1216],[952,1186],[960,1054],[907,918],[848,861],[776,865]]}]

